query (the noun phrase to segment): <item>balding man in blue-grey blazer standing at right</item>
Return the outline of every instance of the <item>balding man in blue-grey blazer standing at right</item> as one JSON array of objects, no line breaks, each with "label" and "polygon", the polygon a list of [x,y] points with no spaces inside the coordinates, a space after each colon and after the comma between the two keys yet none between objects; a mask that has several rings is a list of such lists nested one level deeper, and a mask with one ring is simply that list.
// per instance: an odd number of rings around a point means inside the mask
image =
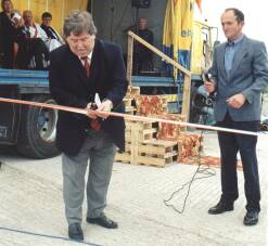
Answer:
[{"label": "balding man in blue-grey blazer standing at right", "polygon": [[[260,93],[268,86],[268,60],[264,42],[247,38],[243,33],[244,14],[234,8],[221,15],[227,41],[214,51],[212,79],[206,91],[216,92],[214,107],[217,126],[257,132],[260,120]],[[221,158],[221,197],[208,210],[218,215],[233,210],[239,197],[237,155],[240,152],[246,197],[245,225],[258,222],[260,190],[256,156],[257,137],[218,132]]]}]

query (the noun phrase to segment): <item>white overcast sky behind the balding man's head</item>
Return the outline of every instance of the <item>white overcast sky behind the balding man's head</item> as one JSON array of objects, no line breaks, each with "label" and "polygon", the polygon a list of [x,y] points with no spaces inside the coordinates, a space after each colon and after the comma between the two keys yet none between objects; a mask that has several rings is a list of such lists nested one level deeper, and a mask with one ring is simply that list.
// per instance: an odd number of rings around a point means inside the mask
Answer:
[{"label": "white overcast sky behind the balding man's head", "polygon": [[268,49],[267,8],[265,3],[266,0],[202,0],[203,14],[199,17],[207,18],[210,25],[217,26],[219,40],[225,41],[220,26],[220,15],[227,8],[238,8],[245,15],[243,33],[250,38],[264,41]]}]

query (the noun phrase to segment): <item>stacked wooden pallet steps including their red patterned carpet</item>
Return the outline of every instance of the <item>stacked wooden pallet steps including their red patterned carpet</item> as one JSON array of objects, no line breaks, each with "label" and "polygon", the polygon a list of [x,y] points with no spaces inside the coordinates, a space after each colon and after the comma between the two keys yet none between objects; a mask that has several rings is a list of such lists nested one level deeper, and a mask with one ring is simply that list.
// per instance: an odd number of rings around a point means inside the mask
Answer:
[{"label": "stacked wooden pallet steps including their red patterned carpet", "polygon": [[[128,114],[186,121],[183,115],[167,113],[167,101],[166,95],[141,95],[139,87],[129,87],[124,99]],[[165,167],[196,156],[202,138],[183,130],[186,128],[179,125],[127,120],[126,152],[117,153],[115,160]]]}]

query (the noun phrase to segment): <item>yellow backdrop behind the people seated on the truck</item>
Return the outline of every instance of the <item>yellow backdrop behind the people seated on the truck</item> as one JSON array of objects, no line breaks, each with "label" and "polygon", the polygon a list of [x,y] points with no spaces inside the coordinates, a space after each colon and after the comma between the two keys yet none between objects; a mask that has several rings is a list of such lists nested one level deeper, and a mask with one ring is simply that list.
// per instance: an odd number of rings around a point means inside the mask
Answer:
[{"label": "yellow backdrop behind the people seated on the truck", "polygon": [[41,23],[41,14],[48,11],[52,14],[51,25],[62,34],[64,18],[72,10],[86,10],[88,0],[12,0],[14,9],[21,13],[31,10],[35,22]]}]

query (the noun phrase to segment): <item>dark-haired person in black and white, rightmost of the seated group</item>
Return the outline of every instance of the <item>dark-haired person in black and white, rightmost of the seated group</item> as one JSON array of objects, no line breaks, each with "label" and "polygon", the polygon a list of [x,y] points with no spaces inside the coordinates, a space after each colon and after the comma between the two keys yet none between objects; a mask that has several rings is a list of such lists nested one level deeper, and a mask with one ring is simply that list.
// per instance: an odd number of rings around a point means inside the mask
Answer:
[{"label": "dark-haired person in black and white, rightmost of the seated group", "polygon": [[58,31],[51,26],[52,14],[49,12],[42,13],[42,24],[41,28],[46,31],[48,36],[47,46],[50,51],[55,48],[62,46],[64,43],[62,37],[58,34]]}]

